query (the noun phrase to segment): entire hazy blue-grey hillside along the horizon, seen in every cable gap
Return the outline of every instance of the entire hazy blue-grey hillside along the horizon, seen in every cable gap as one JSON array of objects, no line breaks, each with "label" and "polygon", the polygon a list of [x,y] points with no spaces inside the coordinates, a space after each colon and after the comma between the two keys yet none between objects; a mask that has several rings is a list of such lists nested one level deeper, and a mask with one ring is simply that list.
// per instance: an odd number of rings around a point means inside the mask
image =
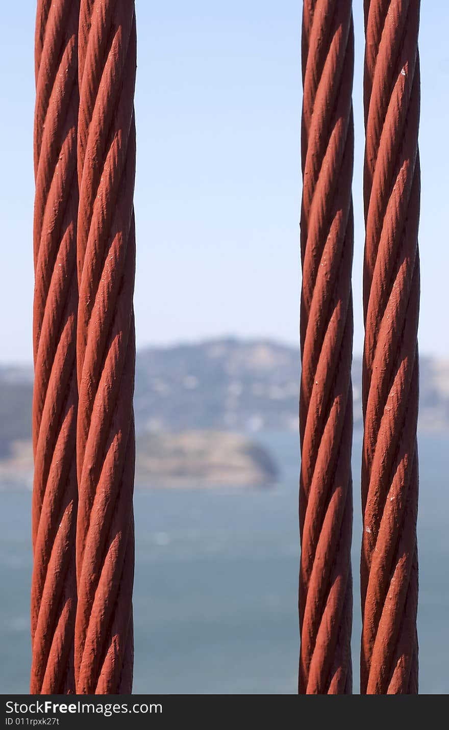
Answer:
[{"label": "entire hazy blue-grey hillside along the horizon, seen in every cable gap", "polygon": [[[299,353],[275,342],[223,339],[137,353],[134,409],[148,431],[260,431],[298,425]],[[31,437],[31,369],[0,369],[0,457]],[[361,360],[353,364],[361,428]],[[420,428],[449,430],[449,361],[421,358]]]}]

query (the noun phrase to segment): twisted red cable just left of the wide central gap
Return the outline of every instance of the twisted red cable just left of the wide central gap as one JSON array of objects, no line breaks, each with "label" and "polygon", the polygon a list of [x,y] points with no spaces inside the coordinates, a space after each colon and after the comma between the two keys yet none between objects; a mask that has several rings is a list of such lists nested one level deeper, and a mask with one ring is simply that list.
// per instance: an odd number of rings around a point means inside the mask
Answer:
[{"label": "twisted red cable just left of the wide central gap", "polygon": [[129,694],[134,580],[134,1],[82,0],[77,231],[79,694]]}]

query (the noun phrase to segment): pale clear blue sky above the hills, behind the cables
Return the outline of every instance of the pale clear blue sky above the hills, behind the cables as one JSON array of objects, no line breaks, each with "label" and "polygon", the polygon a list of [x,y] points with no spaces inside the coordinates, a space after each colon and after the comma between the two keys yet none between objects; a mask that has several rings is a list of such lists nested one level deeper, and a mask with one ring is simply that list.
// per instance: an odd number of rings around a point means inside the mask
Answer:
[{"label": "pale clear blue sky above the hills, behind the cables", "polygon": [[[354,352],[363,346],[362,2],[354,2]],[[137,0],[137,346],[297,343],[299,0]],[[31,361],[34,15],[2,8],[1,362]],[[449,3],[421,9],[421,352],[449,356]]]}]

